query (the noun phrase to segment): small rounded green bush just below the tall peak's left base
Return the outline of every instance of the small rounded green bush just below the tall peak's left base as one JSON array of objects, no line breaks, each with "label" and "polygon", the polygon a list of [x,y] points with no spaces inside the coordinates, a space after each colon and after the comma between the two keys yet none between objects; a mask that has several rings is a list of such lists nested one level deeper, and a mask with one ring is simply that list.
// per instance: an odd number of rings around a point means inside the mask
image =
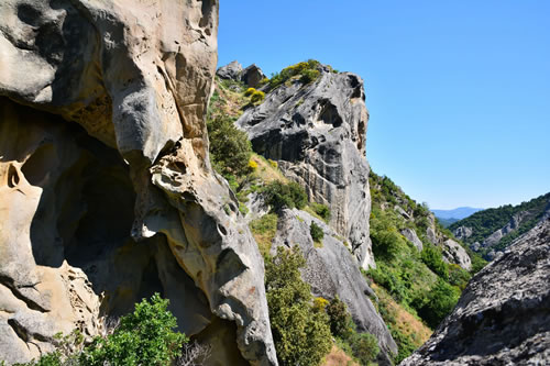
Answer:
[{"label": "small rounded green bush just below the tall peak's left base", "polygon": [[263,188],[262,192],[265,196],[265,202],[275,212],[285,207],[301,209],[308,200],[304,188],[295,181],[284,184],[280,180],[273,180]]}]

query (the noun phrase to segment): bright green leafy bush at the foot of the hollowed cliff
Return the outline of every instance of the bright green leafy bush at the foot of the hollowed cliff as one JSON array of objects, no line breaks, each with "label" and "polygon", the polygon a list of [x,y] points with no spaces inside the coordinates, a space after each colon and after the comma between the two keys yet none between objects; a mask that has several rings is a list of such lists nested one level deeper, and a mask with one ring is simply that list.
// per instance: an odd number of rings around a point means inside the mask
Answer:
[{"label": "bright green leafy bush at the foot of the hollowed cliff", "polygon": [[143,299],[107,339],[96,337],[81,356],[86,365],[170,365],[188,340],[174,329],[176,318],[158,293]]}]

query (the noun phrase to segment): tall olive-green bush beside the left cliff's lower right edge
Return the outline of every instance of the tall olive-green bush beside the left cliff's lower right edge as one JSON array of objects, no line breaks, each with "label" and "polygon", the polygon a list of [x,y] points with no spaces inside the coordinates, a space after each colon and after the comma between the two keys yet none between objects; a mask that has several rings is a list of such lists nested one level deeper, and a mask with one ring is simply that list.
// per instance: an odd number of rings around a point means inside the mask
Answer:
[{"label": "tall olive-green bush beside the left cliff's lower right edge", "polygon": [[280,365],[319,365],[332,342],[328,317],[311,306],[300,277],[306,260],[297,247],[277,248],[265,260],[265,288],[275,348]]}]

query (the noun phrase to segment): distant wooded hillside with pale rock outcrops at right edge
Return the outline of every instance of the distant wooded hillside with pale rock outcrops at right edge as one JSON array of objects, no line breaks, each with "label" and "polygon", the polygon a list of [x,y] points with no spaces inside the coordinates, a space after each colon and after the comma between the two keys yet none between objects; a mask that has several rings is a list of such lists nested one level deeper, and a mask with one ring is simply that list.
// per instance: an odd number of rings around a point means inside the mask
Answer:
[{"label": "distant wooded hillside with pale rock outcrops at right edge", "polygon": [[449,226],[457,237],[486,259],[493,259],[521,234],[550,217],[550,193],[517,206],[487,209]]}]

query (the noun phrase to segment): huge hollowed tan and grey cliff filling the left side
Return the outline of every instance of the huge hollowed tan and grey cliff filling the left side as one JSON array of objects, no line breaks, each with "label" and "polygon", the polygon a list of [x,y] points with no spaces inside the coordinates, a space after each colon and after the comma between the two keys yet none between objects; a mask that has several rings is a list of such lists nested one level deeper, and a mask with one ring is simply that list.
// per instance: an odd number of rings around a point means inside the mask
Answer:
[{"label": "huge hollowed tan and grey cliff filling the left side", "polygon": [[94,335],[158,291],[211,365],[276,365],[262,257],[208,158],[218,1],[0,16],[0,354]]}]

